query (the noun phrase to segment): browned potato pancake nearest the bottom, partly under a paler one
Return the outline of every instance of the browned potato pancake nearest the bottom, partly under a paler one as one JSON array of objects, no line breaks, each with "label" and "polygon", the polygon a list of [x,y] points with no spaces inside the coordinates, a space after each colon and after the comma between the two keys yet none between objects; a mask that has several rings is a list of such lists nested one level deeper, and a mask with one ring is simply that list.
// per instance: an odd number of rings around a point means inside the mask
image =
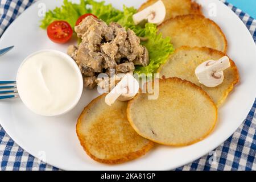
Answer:
[{"label": "browned potato pancake nearest the bottom, partly under a paler one", "polygon": [[153,143],[138,135],[127,121],[127,102],[105,104],[103,94],[82,111],[76,133],[86,153],[97,162],[117,164],[146,154]]}]

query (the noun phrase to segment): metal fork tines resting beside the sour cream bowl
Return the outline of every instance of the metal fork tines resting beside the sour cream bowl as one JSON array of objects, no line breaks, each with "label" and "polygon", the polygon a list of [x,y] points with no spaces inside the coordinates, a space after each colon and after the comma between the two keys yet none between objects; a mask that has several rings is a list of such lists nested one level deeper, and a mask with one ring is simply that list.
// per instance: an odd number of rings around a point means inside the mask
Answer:
[{"label": "metal fork tines resting beside the sour cream bowl", "polygon": [[0,81],[0,100],[19,97],[16,81]]}]

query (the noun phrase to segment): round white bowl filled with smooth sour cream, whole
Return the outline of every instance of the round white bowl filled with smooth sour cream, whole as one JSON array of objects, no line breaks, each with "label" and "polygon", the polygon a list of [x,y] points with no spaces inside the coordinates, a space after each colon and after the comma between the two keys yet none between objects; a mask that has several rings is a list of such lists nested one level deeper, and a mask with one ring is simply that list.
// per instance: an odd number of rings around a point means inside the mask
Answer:
[{"label": "round white bowl filled with smooth sour cream, whole", "polygon": [[16,82],[24,105],[44,116],[72,110],[83,89],[82,74],[75,61],[51,49],[28,56],[18,69]]}]

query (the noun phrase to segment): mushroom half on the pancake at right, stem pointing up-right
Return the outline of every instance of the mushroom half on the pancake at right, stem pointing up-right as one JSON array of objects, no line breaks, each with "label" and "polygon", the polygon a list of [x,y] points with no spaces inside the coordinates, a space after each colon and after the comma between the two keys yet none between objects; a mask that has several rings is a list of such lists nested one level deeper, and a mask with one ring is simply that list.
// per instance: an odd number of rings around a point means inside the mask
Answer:
[{"label": "mushroom half on the pancake at right, stem pointing up-right", "polygon": [[224,56],[214,61],[208,60],[200,64],[195,74],[199,82],[207,87],[215,87],[220,85],[224,80],[224,70],[230,67],[229,57]]}]

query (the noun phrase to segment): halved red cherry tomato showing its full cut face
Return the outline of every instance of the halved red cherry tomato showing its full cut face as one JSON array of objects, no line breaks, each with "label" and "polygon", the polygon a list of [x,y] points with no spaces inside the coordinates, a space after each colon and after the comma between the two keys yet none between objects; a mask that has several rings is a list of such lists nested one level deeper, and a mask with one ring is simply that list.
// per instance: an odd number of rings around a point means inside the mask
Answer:
[{"label": "halved red cherry tomato showing its full cut face", "polygon": [[72,38],[73,30],[68,22],[54,21],[47,27],[48,38],[52,42],[64,44]]}]

